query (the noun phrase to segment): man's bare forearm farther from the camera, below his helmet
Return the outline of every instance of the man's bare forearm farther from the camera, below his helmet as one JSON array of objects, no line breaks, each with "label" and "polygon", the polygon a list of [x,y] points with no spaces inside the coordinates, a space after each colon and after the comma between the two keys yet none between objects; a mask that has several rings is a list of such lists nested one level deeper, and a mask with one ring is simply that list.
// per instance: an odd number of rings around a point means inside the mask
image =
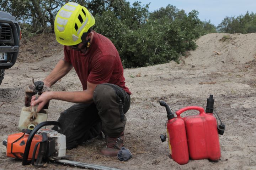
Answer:
[{"label": "man's bare forearm farther from the camera, below his helmet", "polygon": [[44,84],[48,87],[54,85],[59,79],[64,77],[72,69],[72,65],[65,62],[63,59],[60,60],[52,72],[43,80]]}]

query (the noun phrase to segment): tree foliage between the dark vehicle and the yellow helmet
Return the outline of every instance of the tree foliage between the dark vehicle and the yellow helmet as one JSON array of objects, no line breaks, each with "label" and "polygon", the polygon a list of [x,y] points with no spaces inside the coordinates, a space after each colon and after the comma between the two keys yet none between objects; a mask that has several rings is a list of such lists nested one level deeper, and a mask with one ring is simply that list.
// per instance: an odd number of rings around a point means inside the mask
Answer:
[{"label": "tree foliage between the dark vehicle and the yellow helmet", "polygon": [[0,7],[18,19],[26,36],[42,33],[49,26],[54,32],[55,15],[64,3],[64,0],[0,0]]}]

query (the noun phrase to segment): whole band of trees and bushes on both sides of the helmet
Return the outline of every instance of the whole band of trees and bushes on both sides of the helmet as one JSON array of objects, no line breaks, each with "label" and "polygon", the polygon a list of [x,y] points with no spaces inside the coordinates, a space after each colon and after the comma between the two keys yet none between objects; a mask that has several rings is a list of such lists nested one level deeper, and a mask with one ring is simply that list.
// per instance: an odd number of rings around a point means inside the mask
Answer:
[{"label": "whole band of trees and bushes on both sides of the helmet", "polygon": [[[2,10],[16,16],[26,36],[54,30],[54,18],[66,0],[0,0]],[[178,62],[180,55],[196,49],[195,40],[215,27],[167,5],[152,13],[149,5],[126,0],[74,0],[89,9],[96,19],[94,30],[117,47],[124,67],[142,67]]]}]

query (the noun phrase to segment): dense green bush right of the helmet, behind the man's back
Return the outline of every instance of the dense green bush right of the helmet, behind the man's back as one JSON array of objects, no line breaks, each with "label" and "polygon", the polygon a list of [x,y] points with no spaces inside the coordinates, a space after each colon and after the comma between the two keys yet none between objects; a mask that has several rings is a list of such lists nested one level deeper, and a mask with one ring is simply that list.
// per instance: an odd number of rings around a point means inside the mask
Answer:
[{"label": "dense green bush right of the helmet, behind the man's back", "polygon": [[180,55],[196,49],[194,40],[201,35],[197,29],[201,24],[197,11],[174,21],[166,16],[149,19],[134,30],[130,30],[112,11],[102,12],[95,19],[96,32],[110,38],[125,68],[162,64],[171,60],[178,62]]}]

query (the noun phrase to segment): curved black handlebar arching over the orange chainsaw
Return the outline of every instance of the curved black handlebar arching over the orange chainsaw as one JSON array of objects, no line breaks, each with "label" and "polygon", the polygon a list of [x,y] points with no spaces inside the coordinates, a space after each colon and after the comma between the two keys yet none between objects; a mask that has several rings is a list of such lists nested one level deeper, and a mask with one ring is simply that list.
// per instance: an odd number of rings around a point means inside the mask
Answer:
[{"label": "curved black handlebar arching over the orange chainsaw", "polygon": [[36,127],[34,127],[34,129],[30,132],[30,135],[28,136],[27,144],[26,144],[25,151],[24,151],[23,158],[22,158],[22,165],[29,164],[27,158],[28,158],[28,154],[30,152],[30,146],[31,146],[31,142],[33,140],[34,135],[40,128],[42,128],[43,126],[47,126],[47,125],[57,125],[59,128],[61,128],[61,125],[58,121],[44,121],[44,122],[36,125]]}]

